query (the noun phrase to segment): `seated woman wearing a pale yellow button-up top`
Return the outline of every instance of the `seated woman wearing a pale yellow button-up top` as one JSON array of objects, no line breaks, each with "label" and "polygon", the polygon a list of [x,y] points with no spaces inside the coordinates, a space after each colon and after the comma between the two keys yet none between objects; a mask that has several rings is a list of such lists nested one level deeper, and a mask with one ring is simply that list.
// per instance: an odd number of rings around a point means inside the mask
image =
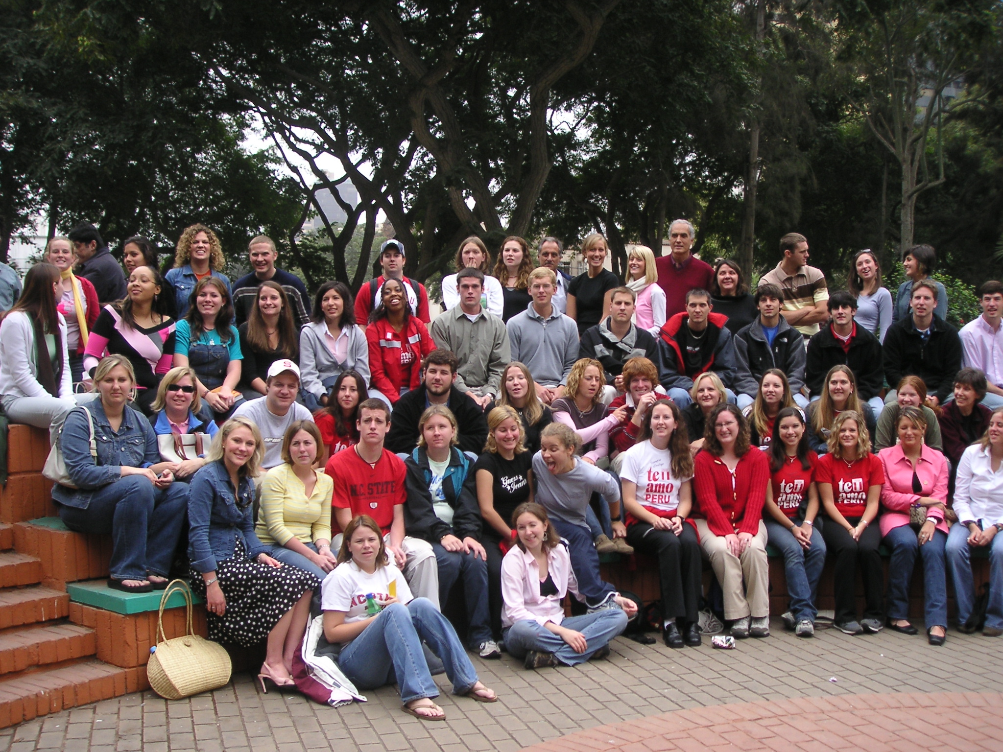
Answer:
[{"label": "seated woman wearing a pale yellow button-up top", "polygon": [[331,495],[334,481],[318,469],[320,431],[297,420],[282,438],[282,464],[261,480],[261,509],[255,534],[272,558],[323,580],[337,563],[331,551]]}]

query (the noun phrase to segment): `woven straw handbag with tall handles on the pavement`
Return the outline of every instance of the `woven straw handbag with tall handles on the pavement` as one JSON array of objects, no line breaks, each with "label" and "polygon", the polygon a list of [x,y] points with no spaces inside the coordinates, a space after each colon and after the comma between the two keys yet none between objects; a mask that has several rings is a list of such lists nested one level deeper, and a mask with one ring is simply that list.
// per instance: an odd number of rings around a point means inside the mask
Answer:
[{"label": "woven straw handbag with tall handles on the pavement", "polygon": [[[188,629],[183,637],[163,637],[163,607],[175,591],[185,596],[188,607]],[[230,681],[230,656],[223,646],[204,640],[192,629],[192,591],[184,580],[174,580],[160,598],[156,618],[159,640],[149,657],[146,676],[153,692],[166,700],[181,700],[218,689]]]}]

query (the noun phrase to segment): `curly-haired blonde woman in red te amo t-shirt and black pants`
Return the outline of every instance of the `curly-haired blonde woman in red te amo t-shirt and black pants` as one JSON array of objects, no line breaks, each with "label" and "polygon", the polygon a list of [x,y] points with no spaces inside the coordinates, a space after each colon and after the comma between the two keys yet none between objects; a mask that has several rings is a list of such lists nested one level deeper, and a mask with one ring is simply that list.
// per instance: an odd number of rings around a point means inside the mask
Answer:
[{"label": "curly-haired blonde woman in red te amo t-shirt and black pants", "polygon": [[[854,410],[835,417],[828,437],[828,452],[815,465],[815,483],[825,513],[821,534],[832,554],[835,617],[832,626],[847,635],[877,634],[882,625],[881,529],[872,524],[878,516],[885,472],[864,418]],[[857,568],[864,580],[864,619],[857,621]]]}]

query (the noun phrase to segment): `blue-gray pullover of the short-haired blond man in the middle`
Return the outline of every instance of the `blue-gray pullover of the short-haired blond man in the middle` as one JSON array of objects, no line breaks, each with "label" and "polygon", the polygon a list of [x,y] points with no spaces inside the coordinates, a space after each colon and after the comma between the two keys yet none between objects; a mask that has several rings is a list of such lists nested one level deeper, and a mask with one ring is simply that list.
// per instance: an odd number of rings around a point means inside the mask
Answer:
[{"label": "blue-gray pullover of the short-haired blond man in the middle", "polygon": [[544,386],[568,382],[571,367],[578,360],[578,324],[552,306],[544,319],[533,303],[513,316],[507,324],[512,359],[525,363],[534,380]]}]

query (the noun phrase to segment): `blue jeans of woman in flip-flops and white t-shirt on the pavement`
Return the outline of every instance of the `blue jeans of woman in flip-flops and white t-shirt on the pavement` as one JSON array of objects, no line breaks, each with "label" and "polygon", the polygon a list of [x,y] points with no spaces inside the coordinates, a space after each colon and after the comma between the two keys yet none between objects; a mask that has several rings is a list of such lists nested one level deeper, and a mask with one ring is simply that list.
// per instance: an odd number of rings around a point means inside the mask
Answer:
[{"label": "blue jeans of woman in flip-flops and white t-shirt on the pavement", "polygon": [[338,666],[359,689],[376,689],[396,680],[404,704],[438,697],[421,650],[422,641],[442,660],[454,694],[462,695],[477,683],[477,673],[455,630],[426,598],[383,609],[361,635],[341,649]]}]

